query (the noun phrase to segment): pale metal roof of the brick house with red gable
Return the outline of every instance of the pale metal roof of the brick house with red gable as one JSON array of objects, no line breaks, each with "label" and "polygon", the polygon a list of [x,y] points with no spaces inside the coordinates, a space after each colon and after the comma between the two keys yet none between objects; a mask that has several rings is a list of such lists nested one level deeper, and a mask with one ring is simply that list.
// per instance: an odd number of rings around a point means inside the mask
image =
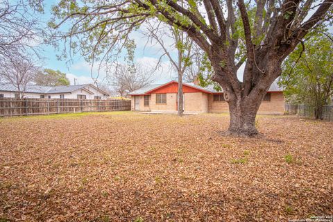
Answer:
[{"label": "pale metal roof of the brick house with red gable", "polygon": [[[168,83],[164,84],[154,84],[154,85],[146,85],[145,87],[142,87],[141,89],[137,89],[133,92],[130,92],[129,95],[144,95],[144,94],[150,94],[151,92],[155,91],[155,89],[162,88],[164,86],[167,86],[171,83],[178,83],[176,80],[172,80]],[[218,94],[223,92],[223,89],[221,91],[216,91],[214,89],[213,85],[208,85],[207,87],[200,87],[199,85],[195,85],[194,83],[183,83],[183,85],[188,87],[193,87],[195,89],[198,89],[200,91],[209,93],[209,94]],[[272,83],[271,87],[269,87],[267,92],[282,92],[283,89],[279,87],[278,83],[274,82]]]}]

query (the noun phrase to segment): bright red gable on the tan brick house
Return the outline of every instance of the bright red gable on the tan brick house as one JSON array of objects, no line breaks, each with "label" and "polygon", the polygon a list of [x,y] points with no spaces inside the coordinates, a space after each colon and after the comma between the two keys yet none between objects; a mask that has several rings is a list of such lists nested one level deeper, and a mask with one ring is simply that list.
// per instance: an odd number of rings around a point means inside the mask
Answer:
[{"label": "bright red gable on the tan brick house", "polygon": [[[152,94],[152,93],[177,93],[178,92],[178,82],[175,80],[172,80],[169,83],[165,83],[164,85],[160,85],[159,87],[156,87],[155,89],[151,89],[146,92],[146,94]],[[182,83],[182,92],[189,93],[189,92],[205,92],[207,94],[212,94],[212,92],[209,92],[205,89],[199,89],[197,87],[187,85],[186,83]]]}]

